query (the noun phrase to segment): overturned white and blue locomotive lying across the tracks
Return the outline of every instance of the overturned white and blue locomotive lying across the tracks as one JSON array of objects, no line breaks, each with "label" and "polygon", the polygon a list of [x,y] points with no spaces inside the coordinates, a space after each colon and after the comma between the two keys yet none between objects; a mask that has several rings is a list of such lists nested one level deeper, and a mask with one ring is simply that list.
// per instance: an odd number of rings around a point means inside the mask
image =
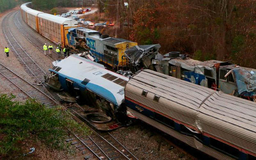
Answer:
[{"label": "overturned white and blue locomotive lying across the tracks", "polygon": [[[124,87],[129,80],[125,76],[78,55],[71,55],[53,64],[55,67],[49,71],[54,76],[50,79],[57,79],[62,89],[80,96],[83,101],[88,100],[88,94],[93,97],[89,98],[91,100],[104,99],[108,102],[104,104],[105,107],[114,109],[112,112],[116,112],[124,102]],[[57,82],[55,81],[55,86],[58,86]],[[49,80],[46,84],[53,87]]]}]

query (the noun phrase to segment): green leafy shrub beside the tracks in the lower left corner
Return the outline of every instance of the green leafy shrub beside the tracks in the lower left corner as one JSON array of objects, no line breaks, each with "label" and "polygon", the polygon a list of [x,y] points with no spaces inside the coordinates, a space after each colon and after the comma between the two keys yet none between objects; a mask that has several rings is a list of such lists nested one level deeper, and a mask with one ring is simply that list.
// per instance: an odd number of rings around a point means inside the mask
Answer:
[{"label": "green leafy shrub beside the tracks in the lower left corner", "polygon": [[71,119],[61,107],[47,108],[30,99],[25,103],[12,101],[14,96],[0,95],[0,158],[26,159],[25,144],[40,144],[49,151],[72,150],[64,142],[71,132],[88,134],[87,128]]}]

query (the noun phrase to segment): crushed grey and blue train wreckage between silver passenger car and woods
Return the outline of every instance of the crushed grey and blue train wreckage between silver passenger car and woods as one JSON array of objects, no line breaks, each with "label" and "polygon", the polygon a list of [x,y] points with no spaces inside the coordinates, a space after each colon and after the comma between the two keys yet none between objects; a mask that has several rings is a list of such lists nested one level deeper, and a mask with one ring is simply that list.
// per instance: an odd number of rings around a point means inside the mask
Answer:
[{"label": "crushed grey and blue train wreckage between silver passenger car and woods", "polygon": [[201,62],[183,55],[165,56],[158,64],[166,75],[256,101],[255,69],[240,67],[230,61]]}]

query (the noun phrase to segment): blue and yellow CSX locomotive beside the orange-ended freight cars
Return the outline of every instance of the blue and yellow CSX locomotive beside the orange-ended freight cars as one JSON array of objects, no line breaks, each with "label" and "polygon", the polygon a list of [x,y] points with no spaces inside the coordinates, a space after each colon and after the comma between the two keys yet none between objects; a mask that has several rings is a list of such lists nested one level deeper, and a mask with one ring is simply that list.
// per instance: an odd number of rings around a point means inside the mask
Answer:
[{"label": "blue and yellow CSX locomotive beside the orange-ended freight cars", "polygon": [[127,66],[125,50],[137,43],[126,39],[101,35],[96,30],[84,27],[70,28],[66,35],[68,46],[75,50],[88,49],[97,59],[112,68]]}]

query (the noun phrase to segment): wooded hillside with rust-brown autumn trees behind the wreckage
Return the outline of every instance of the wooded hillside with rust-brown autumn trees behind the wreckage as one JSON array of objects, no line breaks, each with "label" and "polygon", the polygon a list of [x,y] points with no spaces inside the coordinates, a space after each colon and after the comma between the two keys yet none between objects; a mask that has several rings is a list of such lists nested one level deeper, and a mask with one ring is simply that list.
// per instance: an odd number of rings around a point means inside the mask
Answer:
[{"label": "wooded hillside with rust-brown autumn trees behind the wreckage", "polygon": [[131,25],[129,39],[139,44],[160,43],[162,53],[233,59],[240,66],[256,68],[255,0],[101,1],[103,11],[121,22],[121,30],[127,30],[123,23]]}]

